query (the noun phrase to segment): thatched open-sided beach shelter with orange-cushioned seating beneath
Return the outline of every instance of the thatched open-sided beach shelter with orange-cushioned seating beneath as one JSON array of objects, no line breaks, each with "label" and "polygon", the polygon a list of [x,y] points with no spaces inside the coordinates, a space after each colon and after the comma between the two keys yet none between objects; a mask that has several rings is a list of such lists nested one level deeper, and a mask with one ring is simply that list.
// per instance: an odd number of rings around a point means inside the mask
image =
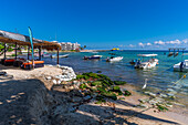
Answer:
[{"label": "thatched open-sided beach shelter with orange-cushioned seating beneath", "polygon": [[[44,61],[41,61],[41,56],[42,56],[41,50],[48,50],[48,51],[56,50],[56,52],[58,52],[56,63],[59,64],[59,50],[61,49],[60,44],[34,39],[34,38],[32,39],[32,41],[33,41],[33,48],[39,49],[39,59],[36,59],[36,60],[33,60],[33,59],[31,60],[29,58],[30,48],[31,48],[30,37],[0,30],[0,42],[4,44],[4,49],[3,49],[4,56],[3,56],[3,59],[1,59],[0,63],[6,66],[13,65],[13,66],[21,67],[24,70],[42,67],[42,66],[44,66]],[[7,55],[6,55],[7,43],[15,45],[15,48],[14,48],[15,56],[14,58],[7,58]],[[18,53],[17,53],[18,45],[28,46],[28,59],[18,58]]]}]

